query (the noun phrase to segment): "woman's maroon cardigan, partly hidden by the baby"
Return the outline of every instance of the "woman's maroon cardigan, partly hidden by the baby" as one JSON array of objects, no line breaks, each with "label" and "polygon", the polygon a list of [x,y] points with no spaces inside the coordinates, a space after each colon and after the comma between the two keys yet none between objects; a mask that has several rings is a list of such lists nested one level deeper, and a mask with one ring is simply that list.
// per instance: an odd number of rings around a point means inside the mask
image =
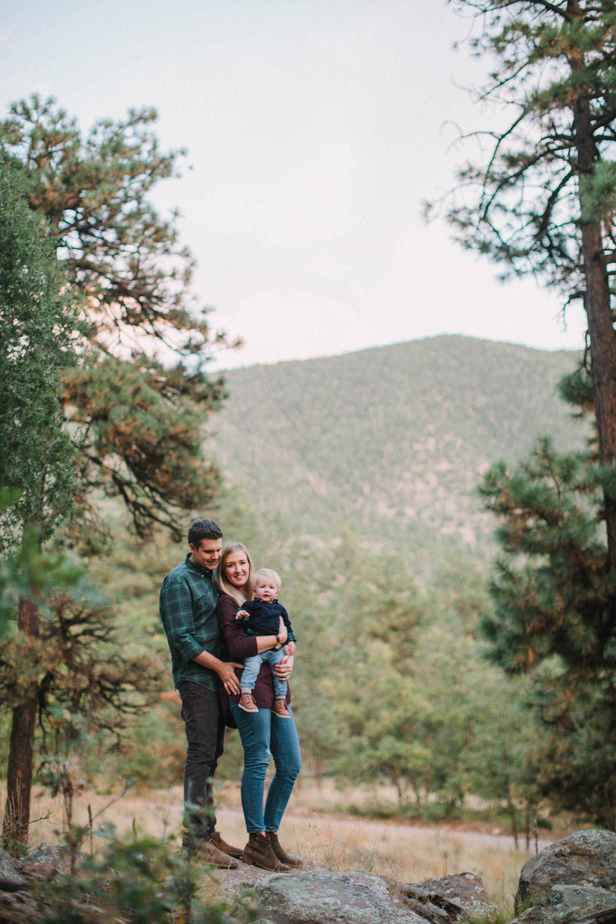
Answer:
[{"label": "woman's maroon cardigan, partly hidden by the baby", "polygon": [[[237,603],[228,593],[223,593],[216,604],[218,625],[223,636],[223,651],[221,661],[235,661],[244,663],[246,658],[257,654],[257,638],[247,636],[244,624],[236,619]],[[242,676],[240,667],[236,667],[236,677],[239,681]],[[229,699],[239,702],[239,694],[229,696],[223,683],[219,685],[221,705],[223,707],[224,722],[227,728],[236,728],[236,723],[229,709]],[[261,664],[259,676],[252,691],[259,709],[273,709],[273,681],[272,668],[269,664]],[[287,683],[286,701],[291,702],[291,687]]]}]

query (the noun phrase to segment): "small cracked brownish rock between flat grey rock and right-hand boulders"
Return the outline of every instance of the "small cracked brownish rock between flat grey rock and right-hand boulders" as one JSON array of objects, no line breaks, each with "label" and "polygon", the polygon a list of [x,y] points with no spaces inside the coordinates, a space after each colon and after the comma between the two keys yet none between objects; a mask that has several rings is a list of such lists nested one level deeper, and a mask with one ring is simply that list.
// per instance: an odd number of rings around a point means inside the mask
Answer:
[{"label": "small cracked brownish rock between flat grey rock and right-hand boulders", "polygon": [[[398,888],[405,895],[409,906],[423,918],[428,918],[432,924],[438,924],[439,921],[446,924],[466,913],[473,918],[482,918],[496,911],[481,877],[474,872],[460,872],[454,876],[441,876],[409,884],[400,882]],[[435,908],[438,910],[435,911]],[[443,913],[444,918],[441,917]]]}]

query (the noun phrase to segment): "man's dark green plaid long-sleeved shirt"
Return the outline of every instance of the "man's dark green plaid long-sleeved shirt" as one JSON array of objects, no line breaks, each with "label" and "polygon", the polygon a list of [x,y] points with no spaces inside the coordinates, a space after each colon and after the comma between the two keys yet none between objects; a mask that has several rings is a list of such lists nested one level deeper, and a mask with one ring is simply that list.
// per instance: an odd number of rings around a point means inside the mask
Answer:
[{"label": "man's dark green plaid long-sleeved shirt", "polygon": [[174,686],[192,680],[201,687],[218,690],[218,675],[193,661],[201,651],[220,658],[223,643],[218,628],[218,597],[211,571],[190,561],[177,565],[163,580],[161,619],[171,649]]}]

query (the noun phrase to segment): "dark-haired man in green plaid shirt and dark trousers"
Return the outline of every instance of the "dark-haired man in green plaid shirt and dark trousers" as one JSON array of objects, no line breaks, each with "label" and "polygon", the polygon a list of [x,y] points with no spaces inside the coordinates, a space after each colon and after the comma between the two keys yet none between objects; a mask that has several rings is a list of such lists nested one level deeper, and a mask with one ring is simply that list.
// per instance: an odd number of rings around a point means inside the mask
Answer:
[{"label": "dark-haired man in green plaid shirt and dark trousers", "polygon": [[190,552],[163,580],[161,619],[171,649],[174,686],[182,699],[187,756],[184,768],[184,846],[214,866],[236,869],[242,851],[216,831],[211,781],[223,754],[224,717],[219,683],[239,693],[234,663],[224,663],[216,591],[211,582],[223,548],[223,533],[210,519],[188,529]]}]

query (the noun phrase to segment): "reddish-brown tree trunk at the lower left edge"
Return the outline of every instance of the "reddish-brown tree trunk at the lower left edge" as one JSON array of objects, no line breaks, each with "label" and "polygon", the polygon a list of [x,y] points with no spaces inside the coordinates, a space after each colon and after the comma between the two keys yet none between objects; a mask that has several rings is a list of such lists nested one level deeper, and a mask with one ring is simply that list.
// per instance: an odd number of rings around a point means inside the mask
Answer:
[{"label": "reddish-brown tree trunk at the lower left edge", "polygon": [[[29,636],[35,636],[38,632],[39,617],[34,604],[27,598],[19,601],[18,626]],[[13,710],[6,771],[5,821],[2,832],[5,844],[10,844],[11,841],[28,844],[36,702],[36,689],[34,689],[32,696]]]}]

